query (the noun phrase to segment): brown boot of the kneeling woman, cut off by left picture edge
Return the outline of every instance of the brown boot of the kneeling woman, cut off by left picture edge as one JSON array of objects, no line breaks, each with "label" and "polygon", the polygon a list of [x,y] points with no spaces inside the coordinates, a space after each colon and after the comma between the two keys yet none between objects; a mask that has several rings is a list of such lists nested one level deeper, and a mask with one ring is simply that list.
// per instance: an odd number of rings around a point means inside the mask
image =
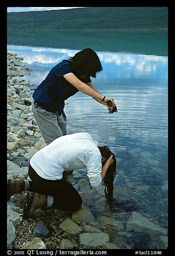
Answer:
[{"label": "brown boot of the kneeling woman, cut off by left picture edge", "polygon": [[7,180],[7,201],[14,194],[24,191],[24,180]]}]

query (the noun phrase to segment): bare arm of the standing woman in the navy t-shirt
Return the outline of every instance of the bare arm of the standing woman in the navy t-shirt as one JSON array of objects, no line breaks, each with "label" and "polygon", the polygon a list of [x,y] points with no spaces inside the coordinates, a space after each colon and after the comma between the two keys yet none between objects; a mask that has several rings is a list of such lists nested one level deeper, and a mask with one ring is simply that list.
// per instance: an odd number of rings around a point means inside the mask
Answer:
[{"label": "bare arm of the standing woman in the navy t-shirt", "polygon": [[[75,86],[75,88],[77,88],[79,91],[81,91],[82,93],[91,96],[94,99],[98,99],[98,101],[100,102],[101,99],[103,99],[103,95],[100,94],[97,90],[94,90],[93,88],[91,88],[88,84],[83,83],[81,80],[79,80],[73,73],[68,73],[64,75],[64,78],[72,84],[72,86]],[[115,106],[115,102],[113,98],[105,98],[105,103],[107,103],[108,101],[112,102],[112,106]]]}]

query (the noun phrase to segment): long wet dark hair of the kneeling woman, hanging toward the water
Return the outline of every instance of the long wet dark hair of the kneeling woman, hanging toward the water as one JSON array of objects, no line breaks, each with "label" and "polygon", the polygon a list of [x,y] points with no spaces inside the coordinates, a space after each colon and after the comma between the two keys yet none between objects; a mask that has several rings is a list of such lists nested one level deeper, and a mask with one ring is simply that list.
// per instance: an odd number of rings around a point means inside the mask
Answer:
[{"label": "long wet dark hair of the kneeling woman, hanging toward the water", "polygon": [[[106,160],[111,157],[111,154],[113,155],[113,163],[111,166],[108,167],[106,175],[103,180],[103,187],[105,188],[105,197],[108,200],[108,203],[110,205],[110,208],[112,209],[112,201],[114,199],[113,197],[113,190],[114,190],[114,178],[116,175],[116,159],[114,153],[111,152],[110,148],[105,146],[99,146],[99,151],[101,153],[102,157],[105,157]],[[104,166],[105,162],[103,163]]]}]

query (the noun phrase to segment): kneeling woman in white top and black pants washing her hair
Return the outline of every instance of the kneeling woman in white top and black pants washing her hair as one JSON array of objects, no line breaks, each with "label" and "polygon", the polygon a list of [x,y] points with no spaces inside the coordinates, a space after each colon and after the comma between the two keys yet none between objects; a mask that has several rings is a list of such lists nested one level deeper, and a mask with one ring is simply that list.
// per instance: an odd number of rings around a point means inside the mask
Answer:
[{"label": "kneeling woman in white top and black pants washing her hair", "polygon": [[64,178],[63,171],[85,167],[92,187],[104,182],[105,196],[112,208],[116,174],[114,154],[108,147],[98,146],[98,142],[86,132],[59,137],[35,153],[28,167],[31,181],[8,180],[8,200],[20,191],[30,191],[26,197],[24,218],[40,207],[76,211],[81,208],[82,198]]}]

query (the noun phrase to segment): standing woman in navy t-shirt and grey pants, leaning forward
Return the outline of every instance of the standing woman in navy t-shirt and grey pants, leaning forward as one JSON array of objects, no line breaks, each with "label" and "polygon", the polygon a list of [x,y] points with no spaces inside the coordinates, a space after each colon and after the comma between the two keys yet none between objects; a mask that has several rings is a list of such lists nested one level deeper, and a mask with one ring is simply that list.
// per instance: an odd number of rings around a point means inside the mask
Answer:
[{"label": "standing woman in navy t-shirt and grey pants, leaning forward", "polygon": [[90,76],[96,78],[101,70],[103,68],[97,53],[86,48],[53,67],[34,90],[33,115],[47,145],[67,134],[64,101],[78,91],[105,106],[111,100],[112,106],[115,106],[114,99],[100,94],[91,82]]}]

